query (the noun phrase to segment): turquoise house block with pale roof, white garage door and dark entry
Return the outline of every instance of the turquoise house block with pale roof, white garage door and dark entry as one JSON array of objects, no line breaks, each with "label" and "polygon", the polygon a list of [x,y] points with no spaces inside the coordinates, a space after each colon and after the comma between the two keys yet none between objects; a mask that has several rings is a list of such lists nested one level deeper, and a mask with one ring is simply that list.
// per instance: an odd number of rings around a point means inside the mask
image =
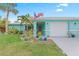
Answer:
[{"label": "turquoise house block with pale roof, white garage door and dark entry", "polygon": [[79,37],[79,17],[39,17],[32,19],[34,37]]}]

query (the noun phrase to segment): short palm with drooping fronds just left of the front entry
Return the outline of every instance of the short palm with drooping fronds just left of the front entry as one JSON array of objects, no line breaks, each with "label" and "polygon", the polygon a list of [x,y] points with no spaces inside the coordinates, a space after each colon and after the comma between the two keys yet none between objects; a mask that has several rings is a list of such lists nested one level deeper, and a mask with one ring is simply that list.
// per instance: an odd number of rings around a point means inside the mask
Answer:
[{"label": "short palm with drooping fronds just left of the front entry", "polygon": [[[32,21],[31,21],[30,14],[18,16],[18,20],[21,21],[21,24],[26,24],[27,25],[27,31],[33,29],[33,24],[32,24]],[[29,29],[29,27],[30,27],[30,29]]]}]

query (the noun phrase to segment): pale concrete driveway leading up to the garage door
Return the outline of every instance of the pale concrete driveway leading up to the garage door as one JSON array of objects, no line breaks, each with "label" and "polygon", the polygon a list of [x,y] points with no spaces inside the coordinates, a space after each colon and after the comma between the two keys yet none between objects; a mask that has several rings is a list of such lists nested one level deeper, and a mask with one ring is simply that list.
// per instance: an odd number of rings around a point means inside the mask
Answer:
[{"label": "pale concrete driveway leading up to the garage door", "polygon": [[79,38],[52,39],[68,56],[79,56]]}]

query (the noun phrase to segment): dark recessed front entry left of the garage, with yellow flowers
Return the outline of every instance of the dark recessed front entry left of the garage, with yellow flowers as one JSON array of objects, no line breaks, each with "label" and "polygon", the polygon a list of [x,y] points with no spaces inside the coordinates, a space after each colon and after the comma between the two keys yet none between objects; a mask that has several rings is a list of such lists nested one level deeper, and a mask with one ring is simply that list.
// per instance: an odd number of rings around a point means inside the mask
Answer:
[{"label": "dark recessed front entry left of the garage, with yellow flowers", "polygon": [[45,36],[45,22],[37,22],[37,37],[43,40],[43,36]]}]

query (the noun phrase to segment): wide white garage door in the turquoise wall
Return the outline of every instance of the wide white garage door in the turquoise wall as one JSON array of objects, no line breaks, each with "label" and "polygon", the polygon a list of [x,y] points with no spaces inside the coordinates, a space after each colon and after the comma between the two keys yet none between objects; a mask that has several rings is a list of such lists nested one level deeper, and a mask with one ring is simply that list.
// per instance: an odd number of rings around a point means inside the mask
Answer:
[{"label": "wide white garage door in the turquoise wall", "polygon": [[49,22],[49,36],[65,37],[67,36],[68,24],[66,22]]}]

